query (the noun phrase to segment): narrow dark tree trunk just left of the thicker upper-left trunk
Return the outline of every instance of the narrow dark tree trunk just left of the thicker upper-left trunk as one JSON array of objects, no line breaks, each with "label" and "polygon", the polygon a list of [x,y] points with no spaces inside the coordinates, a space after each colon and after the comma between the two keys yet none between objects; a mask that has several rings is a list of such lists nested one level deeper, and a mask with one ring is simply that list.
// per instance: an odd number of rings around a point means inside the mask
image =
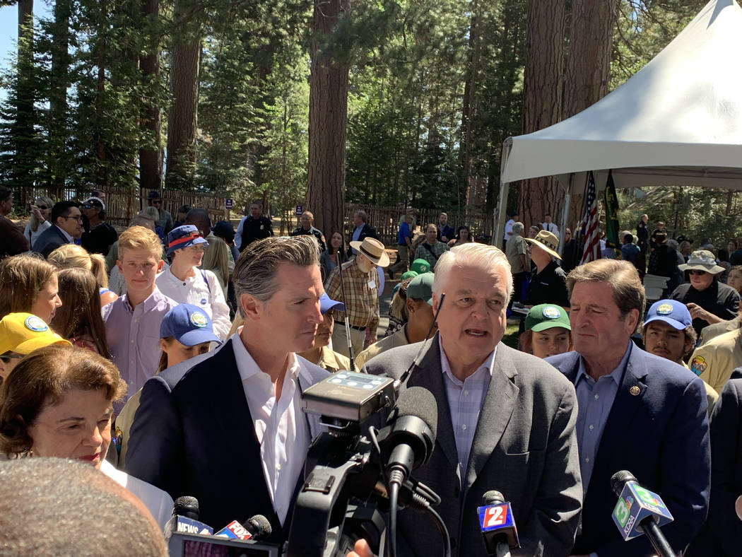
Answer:
[{"label": "narrow dark tree trunk just left of the thicker upper-left trunk", "polygon": [[[142,0],[142,19],[149,29],[157,28],[160,17],[160,0]],[[142,107],[142,127],[148,131],[151,144],[139,148],[139,186],[145,190],[162,187],[162,143],[160,138],[160,105],[153,99],[160,80],[160,32],[148,36],[145,53],[139,57],[142,79],[149,88]]]}]

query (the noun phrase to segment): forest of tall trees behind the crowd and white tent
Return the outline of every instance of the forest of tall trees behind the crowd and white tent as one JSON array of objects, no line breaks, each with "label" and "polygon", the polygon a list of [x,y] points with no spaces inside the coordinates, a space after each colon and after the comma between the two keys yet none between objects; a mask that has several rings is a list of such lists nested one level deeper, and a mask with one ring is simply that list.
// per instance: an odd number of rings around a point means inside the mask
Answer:
[{"label": "forest of tall trees behind the crowd and white tent", "polygon": [[[506,137],[591,105],[706,4],[33,1],[0,0],[19,17],[0,76],[2,183],[303,203],[325,231],[344,203],[491,213]],[[527,226],[561,214],[553,178],[510,187]],[[696,241],[741,235],[737,193],[619,198],[622,228],[646,212]]]}]

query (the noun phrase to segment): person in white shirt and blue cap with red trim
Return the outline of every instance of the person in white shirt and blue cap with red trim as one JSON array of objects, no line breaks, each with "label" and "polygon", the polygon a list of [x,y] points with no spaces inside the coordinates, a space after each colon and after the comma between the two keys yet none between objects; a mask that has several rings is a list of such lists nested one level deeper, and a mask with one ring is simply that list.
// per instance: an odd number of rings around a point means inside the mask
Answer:
[{"label": "person in white shirt and blue cap with red trim", "polygon": [[232,322],[219,279],[211,271],[197,268],[208,245],[192,224],[172,229],[168,234],[172,263],[157,276],[157,287],[179,304],[200,307],[211,318],[214,334],[225,340]]}]

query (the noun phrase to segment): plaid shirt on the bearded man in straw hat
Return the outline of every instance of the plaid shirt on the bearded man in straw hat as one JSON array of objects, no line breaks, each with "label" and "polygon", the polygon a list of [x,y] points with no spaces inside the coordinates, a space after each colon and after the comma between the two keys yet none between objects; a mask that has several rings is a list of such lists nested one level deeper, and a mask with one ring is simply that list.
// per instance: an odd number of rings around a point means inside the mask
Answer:
[{"label": "plaid shirt on the bearded man in straw hat", "polygon": [[[375,269],[361,272],[355,258],[343,264],[343,283],[348,299],[343,297],[338,267],[332,270],[325,291],[327,296],[343,302],[348,310],[348,322],[353,327],[369,327],[373,336],[378,328],[378,273]],[[370,286],[373,284],[373,286]],[[345,313],[333,310],[335,321],[344,322]]]}]

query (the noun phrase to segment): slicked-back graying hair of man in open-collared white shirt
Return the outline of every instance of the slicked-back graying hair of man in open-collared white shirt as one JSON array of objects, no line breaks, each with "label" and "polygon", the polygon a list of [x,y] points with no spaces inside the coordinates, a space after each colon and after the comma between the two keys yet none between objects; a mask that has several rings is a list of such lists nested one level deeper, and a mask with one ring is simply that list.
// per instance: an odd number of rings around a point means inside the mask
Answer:
[{"label": "slicked-back graying hair of man in open-collared white shirt", "polygon": [[[314,236],[271,236],[252,242],[234,265],[234,293],[237,300],[249,294],[267,302],[277,292],[275,284],[278,265],[286,262],[298,267],[319,265],[317,241]],[[240,304],[240,314],[244,310]]]}]

